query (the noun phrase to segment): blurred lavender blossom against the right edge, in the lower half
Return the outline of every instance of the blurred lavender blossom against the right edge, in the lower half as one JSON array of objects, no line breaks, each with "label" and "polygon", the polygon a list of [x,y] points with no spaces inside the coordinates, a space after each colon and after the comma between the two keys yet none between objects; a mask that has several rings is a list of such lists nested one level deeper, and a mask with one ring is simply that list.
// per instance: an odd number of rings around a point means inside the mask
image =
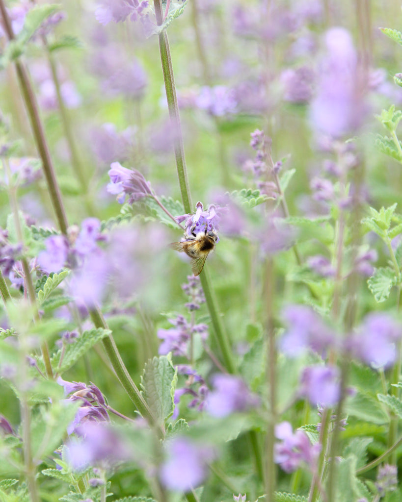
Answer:
[{"label": "blurred lavender blossom against the right edge, in the lower half", "polygon": [[374,368],[387,368],[395,361],[395,343],[401,335],[398,322],[385,313],[374,312],[348,338],[346,348],[353,357]]}]

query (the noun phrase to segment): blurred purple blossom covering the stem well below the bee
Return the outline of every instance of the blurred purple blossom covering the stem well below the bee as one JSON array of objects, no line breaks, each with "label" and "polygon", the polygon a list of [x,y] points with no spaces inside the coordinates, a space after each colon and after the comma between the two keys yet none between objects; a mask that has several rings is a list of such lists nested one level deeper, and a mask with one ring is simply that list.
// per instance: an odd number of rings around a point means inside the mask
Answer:
[{"label": "blurred purple blossom covering the stem well below the bee", "polygon": [[214,417],[226,417],[231,413],[246,411],[259,404],[238,376],[216,374],[212,378],[214,390],[207,398],[207,410]]}]

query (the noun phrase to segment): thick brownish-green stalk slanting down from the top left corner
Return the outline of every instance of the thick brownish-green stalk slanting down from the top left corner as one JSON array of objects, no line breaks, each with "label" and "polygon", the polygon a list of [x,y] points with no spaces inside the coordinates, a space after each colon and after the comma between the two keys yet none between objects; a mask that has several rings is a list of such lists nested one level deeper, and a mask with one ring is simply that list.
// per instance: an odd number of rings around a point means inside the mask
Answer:
[{"label": "thick brownish-green stalk slanting down from the top left corner", "polygon": [[[0,0],[0,13],[3,18],[4,28],[9,41],[14,40],[14,32],[11,26],[9,15],[6,11],[4,0]],[[67,218],[64,211],[64,206],[61,200],[61,193],[57,184],[56,175],[50,157],[49,147],[47,145],[45,132],[43,130],[42,122],[39,117],[39,109],[36,101],[35,93],[32,89],[31,82],[28,77],[27,70],[21,60],[16,59],[15,67],[17,71],[18,82],[24,98],[25,106],[31,123],[31,129],[35,138],[36,148],[42,160],[42,167],[45,173],[45,178],[49,190],[50,199],[53,209],[56,214],[57,222],[61,232],[67,234]]]}]

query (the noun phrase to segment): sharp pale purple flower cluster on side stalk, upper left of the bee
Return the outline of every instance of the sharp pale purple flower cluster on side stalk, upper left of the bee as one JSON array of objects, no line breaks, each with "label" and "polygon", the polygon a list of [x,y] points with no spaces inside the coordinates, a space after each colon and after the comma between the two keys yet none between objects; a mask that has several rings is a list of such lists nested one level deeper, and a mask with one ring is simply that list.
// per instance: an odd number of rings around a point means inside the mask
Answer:
[{"label": "sharp pale purple flower cluster on side stalk, upper left of the bee", "polygon": [[126,196],[129,196],[129,204],[152,195],[151,184],[136,169],[127,169],[119,162],[113,162],[109,170],[111,182],[108,184],[108,192],[118,195],[119,204],[123,204]]}]

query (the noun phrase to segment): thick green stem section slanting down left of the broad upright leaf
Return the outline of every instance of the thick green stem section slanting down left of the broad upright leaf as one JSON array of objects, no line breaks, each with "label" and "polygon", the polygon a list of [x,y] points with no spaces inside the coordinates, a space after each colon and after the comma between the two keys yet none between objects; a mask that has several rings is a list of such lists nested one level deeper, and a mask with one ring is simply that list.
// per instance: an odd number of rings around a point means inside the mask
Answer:
[{"label": "thick green stem section slanting down left of the broad upright leaf", "polygon": [[[99,309],[94,308],[94,309],[90,310],[89,313],[90,313],[90,317],[92,319],[92,322],[96,328],[108,329],[108,325],[107,325],[102,313],[99,311]],[[106,353],[108,354],[109,360],[112,363],[113,369],[116,372],[117,378],[119,379],[120,383],[124,387],[129,398],[135,404],[135,406],[136,406],[137,410],[140,412],[140,414],[148,421],[148,423],[151,426],[156,428],[158,435],[161,438],[163,438],[165,435],[164,430],[162,429],[161,425],[157,423],[149,406],[147,405],[146,401],[142,397],[137,386],[133,382],[133,380],[130,376],[130,373],[128,372],[128,370],[123,362],[123,359],[119,353],[119,350],[116,346],[116,343],[115,343],[115,340],[113,339],[113,337],[111,335],[109,335],[106,338],[104,338],[103,345],[106,350]]]}]

